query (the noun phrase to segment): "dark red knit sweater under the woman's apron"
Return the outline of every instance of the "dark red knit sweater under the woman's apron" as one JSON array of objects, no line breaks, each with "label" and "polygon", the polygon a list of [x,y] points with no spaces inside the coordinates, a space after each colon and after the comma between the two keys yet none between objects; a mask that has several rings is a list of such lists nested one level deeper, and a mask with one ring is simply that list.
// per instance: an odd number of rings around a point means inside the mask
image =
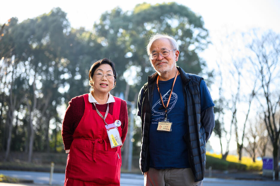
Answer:
[{"label": "dark red knit sweater under the woman's apron", "polygon": [[[99,105],[95,104],[97,109],[100,112],[106,112],[107,104]],[[113,103],[109,103],[109,114],[113,113]],[[92,103],[92,109],[95,110],[95,106]],[[70,146],[73,141],[73,134],[75,129],[77,128],[80,120],[83,117],[85,111],[85,101],[83,95],[74,97],[69,101],[69,106],[65,112],[64,120],[62,122],[62,130],[61,135],[64,143],[64,150],[70,149]],[[124,100],[121,100],[121,110],[120,117],[121,128],[124,129],[121,135],[121,141],[124,143],[124,140],[127,135],[127,127],[128,127],[128,115],[127,115],[127,103]]]}]

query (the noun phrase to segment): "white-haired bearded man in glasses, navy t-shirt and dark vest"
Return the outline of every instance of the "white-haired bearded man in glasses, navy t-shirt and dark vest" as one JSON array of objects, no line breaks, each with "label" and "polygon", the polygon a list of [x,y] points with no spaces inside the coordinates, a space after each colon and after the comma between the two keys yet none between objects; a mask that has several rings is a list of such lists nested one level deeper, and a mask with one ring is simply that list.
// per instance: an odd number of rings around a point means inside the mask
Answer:
[{"label": "white-haired bearded man in glasses, navy t-shirt and dark vest", "polygon": [[215,126],[211,95],[202,77],[176,66],[180,52],[172,37],[154,34],[147,53],[156,73],[138,98],[145,185],[203,185],[205,145]]}]

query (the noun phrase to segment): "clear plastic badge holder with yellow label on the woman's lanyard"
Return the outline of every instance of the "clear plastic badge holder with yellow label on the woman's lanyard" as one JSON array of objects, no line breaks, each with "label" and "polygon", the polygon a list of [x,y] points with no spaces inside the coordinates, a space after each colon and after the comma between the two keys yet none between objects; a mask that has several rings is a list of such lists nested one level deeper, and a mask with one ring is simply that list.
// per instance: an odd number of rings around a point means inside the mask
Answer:
[{"label": "clear plastic badge holder with yellow label on the woman's lanyard", "polygon": [[115,124],[113,123],[109,125],[105,125],[105,127],[111,144],[111,148],[115,148],[123,145],[123,143],[121,142],[121,136],[118,127],[116,127]]}]

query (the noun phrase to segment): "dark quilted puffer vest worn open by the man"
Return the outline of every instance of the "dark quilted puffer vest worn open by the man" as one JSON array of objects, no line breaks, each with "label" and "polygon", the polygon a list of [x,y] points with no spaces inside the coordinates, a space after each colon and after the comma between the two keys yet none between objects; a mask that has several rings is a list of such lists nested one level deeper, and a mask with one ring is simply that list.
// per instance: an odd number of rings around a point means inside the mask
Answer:
[{"label": "dark quilted puffer vest worn open by the man", "polygon": [[[188,144],[189,163],[195,177],[195,182],[203,180],[206,162],[205,149],[205,130],[200,123],[200,94],[199,84],[202,77],[195,74],[187,74],[182,68],[177,67],[183,81],[184,100],[186,107],[186,121],[188,131],[184,136]],[[157,73],[148,77],[148,82],[144,85],[144,93],[141,108],[141,153],[140,153],[140,169],[142,173],[149,170],[149,129],[151,118],[151,98],[153,97],[153,89]]]}]

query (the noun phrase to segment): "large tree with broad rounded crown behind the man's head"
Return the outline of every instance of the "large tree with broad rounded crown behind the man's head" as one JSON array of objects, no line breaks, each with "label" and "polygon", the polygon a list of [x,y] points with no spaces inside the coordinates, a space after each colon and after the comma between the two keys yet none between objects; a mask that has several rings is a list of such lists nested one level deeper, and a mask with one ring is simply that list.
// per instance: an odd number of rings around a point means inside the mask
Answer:
[{"label": "large tree with broad rounded crown behind the man's head", "polygon": [[102,14],[99,22],[94,24],[94,32],[103,45],[100,52],[103,56],[109,55],[116,64],[120,76],[116,92],[122,92],[123,87],[126,87],[128,79],[124,79],[124,71],[131,66],[140,67],[135,77],[138,81],[134,83],[135,89],[130,89],[129,100],[134,100],[134,95],[147,81],[147,76],[154,72],[145,51],[152,33],[166,33],[177,39],[180,47],[178,65],[183,69],[198,74],[205,66],[198,52],[209,43],[208,31],[204,28],[201,16],[177,3],[143,3],[127,12],[115,8]]}]

